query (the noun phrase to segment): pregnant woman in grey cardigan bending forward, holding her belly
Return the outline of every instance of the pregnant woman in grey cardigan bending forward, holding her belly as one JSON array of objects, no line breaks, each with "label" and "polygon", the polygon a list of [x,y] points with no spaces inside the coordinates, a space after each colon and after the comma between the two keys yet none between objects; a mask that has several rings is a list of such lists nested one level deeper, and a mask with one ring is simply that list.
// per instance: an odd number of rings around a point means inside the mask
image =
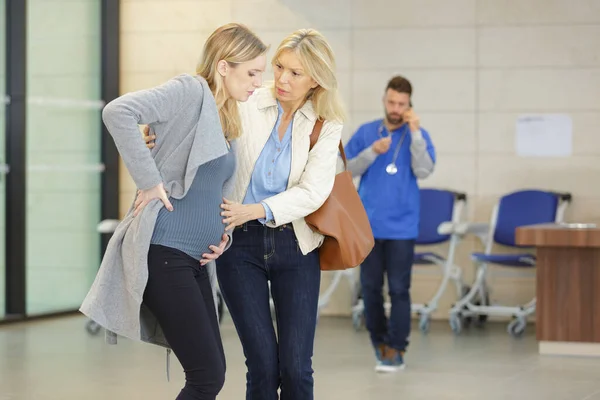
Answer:
[{"label": "pregnant woman in grey cardigan bending forward, holding her belly", "polygon": [[[172,349],[186,377],[178,400],[212,400],[223,387],[206,264],[227,243],[220,204],[235,167],[229,142],[241,134],[237,102],[262,84],[266,49],[246,27],[223,26],[207,40],[196,75],[126,94],[103,111],[139,191],[81,311],[108,331]],[[138,124],[157,133],[152,151]]]}]

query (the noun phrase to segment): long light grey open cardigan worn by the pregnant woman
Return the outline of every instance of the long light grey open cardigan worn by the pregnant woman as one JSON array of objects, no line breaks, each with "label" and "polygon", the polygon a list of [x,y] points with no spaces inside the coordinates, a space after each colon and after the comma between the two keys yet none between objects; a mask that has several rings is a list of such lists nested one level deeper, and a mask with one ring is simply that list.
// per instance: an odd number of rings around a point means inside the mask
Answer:
[{"label": "long light grey open cardigan worn by the pregnant woman", "polygon": [[[156,88],[121,96],[106,105],[102,118],[136,186],[149,189],[163,182],[175,199],[186,195],[200,165],[228,151],[215,99],[200,77],[180,75]],[[138,124],[150,124],[157,133],[152,151]],[[225,184],[226,197],[232,185],[233,178]],[[132,204],[80,308],[107,330],[109,343],[121,335],[169,348],[156,318],[142,304],[148,249],[162,207],[160,200],[153,200],[134,217]],[[207,268],[216,298],[214,262]]]}]

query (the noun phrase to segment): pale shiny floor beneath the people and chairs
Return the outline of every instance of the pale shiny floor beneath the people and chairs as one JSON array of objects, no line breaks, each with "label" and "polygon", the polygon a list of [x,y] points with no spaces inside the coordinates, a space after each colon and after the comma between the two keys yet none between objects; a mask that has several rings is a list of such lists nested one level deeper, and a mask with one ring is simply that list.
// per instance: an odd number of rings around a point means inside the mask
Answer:
[{"label": "pale shiny floor beneath the people and chairs", "polygon": [[[0,326],[0,400],[169,400],[183,375],[153,346],[85,332],[85,320],[64,318]],[[223,325],[227,382],[219,399],[244,399],[245,366],[230,321]],[[314,367],[316,399],[536,399],[600,400],[600,359],[537,355],[533,329],[520,340],[504,325],[454,337],[435,323],[428,336],[414,332],[407,369],[373,371],[366,332],[346,319],[320,321]]]}]

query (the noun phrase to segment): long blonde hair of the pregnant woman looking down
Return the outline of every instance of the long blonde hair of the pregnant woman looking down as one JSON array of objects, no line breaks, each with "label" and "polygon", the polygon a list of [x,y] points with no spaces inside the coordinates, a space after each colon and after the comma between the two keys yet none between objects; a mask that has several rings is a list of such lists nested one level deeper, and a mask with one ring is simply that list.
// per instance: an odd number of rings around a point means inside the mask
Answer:
[{"label": "long blonde hair of the pregnant woman looking down", "polygon": [[267,52],[268,47],[242,24],[231,23],[215,30],[206,43],[196,73],[208,82],[219,109],[223,132],[229,140],[242,133],[237,101],[227,95],[223,77],[217,72],[221,60],[235,68],[236,64],[254,60]]}]

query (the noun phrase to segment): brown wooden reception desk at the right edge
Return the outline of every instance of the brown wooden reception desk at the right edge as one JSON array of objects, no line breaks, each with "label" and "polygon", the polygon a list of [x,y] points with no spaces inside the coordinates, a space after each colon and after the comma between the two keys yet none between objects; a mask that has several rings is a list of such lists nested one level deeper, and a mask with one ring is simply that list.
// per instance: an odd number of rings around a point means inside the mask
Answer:
[{"label": "brown wooden reception desk at the right edge", "polygon": [[600,357],[600,227],[521,227],[537,251],[536,335],[540,354]]}]

